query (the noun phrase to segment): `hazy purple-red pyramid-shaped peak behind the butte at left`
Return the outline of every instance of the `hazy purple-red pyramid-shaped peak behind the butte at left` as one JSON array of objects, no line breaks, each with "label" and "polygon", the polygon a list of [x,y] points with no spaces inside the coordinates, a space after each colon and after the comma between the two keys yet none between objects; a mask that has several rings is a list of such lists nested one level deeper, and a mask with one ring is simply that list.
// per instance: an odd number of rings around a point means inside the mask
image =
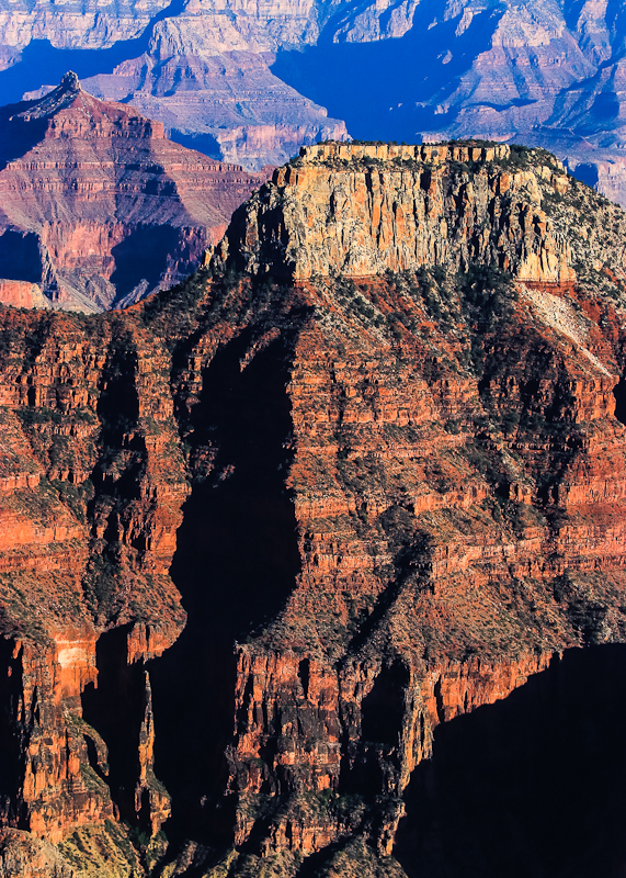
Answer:
[{"label": "hazy purple-red pyramid-shaped peak behind the butte at left", "polygon": [[161,123],[95,100],[70,74],[2,124],[7,304],[102,311],[168,286],[264,179],[171,143]]}]

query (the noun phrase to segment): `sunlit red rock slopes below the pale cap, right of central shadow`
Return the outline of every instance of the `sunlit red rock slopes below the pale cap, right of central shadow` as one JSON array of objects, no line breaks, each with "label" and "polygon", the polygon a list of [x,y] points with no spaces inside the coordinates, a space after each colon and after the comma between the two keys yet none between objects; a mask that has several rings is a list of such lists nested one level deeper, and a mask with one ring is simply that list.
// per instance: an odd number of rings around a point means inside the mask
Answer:
[{"label": "sunlit red rock slopes below the pale cap, right of central shadow", "polygon": [[[331,283],[300,295],[331,315],[303,326],[289,370],[301,573],[239,654],[236,844],[273,802],[262,856],[357,828],[390,853],[439,722],[505,697],[564,648],[624,637],[622,364],[611,333],[595,359],[542,325],[523,289],[505,327],[486,333],[480,376],[466,330],[451,335],[402,281],[358,283],[356,308]],[[366,306],[417,326],[384,340]],[[577,615],[577,600],[602,618]],[[328,791],[327,807],[310,791]],[[348,791],[356,815],[342,810]]]}]

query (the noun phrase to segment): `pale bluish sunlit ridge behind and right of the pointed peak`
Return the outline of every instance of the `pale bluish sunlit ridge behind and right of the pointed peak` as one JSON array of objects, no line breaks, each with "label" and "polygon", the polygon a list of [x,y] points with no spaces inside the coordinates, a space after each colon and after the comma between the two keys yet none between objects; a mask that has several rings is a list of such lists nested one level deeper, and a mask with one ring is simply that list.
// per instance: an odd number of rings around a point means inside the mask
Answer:
[{"label": "pale bluish sunlit ridge behind and right of the pointed peak", "polygon": [[[297,33],[303,22],[289,21],[291,5],[285,12],[285,29]],[[301,144],[348,139],[343,121],[329,119],[323,106],[271,72],[285,34],[276,34],[280,19],[257,14],[254,21],[244,10],[228,15],[187,3],[182,14],[155,25],[140,57],[88,79],[87,88],[162,120],[174,139],[253,170],[282,165]]]}]

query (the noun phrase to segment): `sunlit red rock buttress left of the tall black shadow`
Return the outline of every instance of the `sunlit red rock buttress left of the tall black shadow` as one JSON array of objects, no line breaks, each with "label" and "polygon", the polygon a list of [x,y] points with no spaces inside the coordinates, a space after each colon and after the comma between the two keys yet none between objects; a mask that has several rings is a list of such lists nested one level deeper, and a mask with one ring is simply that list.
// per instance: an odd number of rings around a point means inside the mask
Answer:
[{"label": "sunlit red rock buttress left of the tall black shadow", "polygon": [[[119,661],[140,664],[184,623],[168,569],[186,485],[161,350],[115,320],[86,334],[60,315],[1,319],[2,735],[15,772],[3,821],[58,842],[114,815],[88,743],[103,765],[106,746],[82,718],[99,635],[126,624]],[[137,796],[158,829],[169,806],[152,735],[146,707]]]}]

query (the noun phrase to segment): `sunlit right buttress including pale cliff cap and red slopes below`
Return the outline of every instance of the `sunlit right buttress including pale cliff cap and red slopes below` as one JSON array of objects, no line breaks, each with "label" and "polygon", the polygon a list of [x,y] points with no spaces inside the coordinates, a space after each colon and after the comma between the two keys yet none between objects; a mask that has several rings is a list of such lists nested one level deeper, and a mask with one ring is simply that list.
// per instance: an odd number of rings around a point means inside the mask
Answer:
[{"label": "sunlit right buttress including pale cliff cap and red slopes below", "polygon": [[[593,273],[622,283],[623,254],[593,228],[608,216],[587,219],[599,204],[574,219],[581,187],[500,149],[311,147],[234,217],[231,264],[258,284],[311,278],[282,312],[310,315],[286,384],[301,569],[241,648],[229,752],[237,843],[263,813],[262,856],[356,826],[389,853],[437,722],[564,648],[624,637],[624,329]],[[455,275],[464,258],[475,268]],[[382,280],[379,259],[403,272]],[[523,280],[516,293],[482,260]]]}]

